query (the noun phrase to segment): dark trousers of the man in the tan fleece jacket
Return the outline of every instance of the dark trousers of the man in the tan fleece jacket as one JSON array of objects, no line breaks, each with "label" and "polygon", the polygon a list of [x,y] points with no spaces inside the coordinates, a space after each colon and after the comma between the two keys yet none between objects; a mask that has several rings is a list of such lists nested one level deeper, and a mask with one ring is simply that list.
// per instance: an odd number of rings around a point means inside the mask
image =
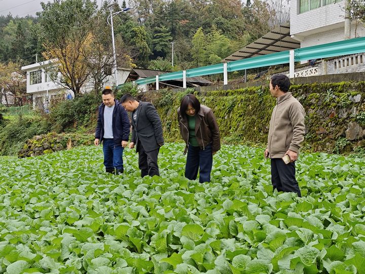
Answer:
[{"label": "dark trousers of the man in the tan fleece jacket", "polygon": [[271,183],[273,189],[284,192],[296,192],[299,197],[302,194],[295,178],[295,163],[285,164],[281,158],[271,159]]}]

